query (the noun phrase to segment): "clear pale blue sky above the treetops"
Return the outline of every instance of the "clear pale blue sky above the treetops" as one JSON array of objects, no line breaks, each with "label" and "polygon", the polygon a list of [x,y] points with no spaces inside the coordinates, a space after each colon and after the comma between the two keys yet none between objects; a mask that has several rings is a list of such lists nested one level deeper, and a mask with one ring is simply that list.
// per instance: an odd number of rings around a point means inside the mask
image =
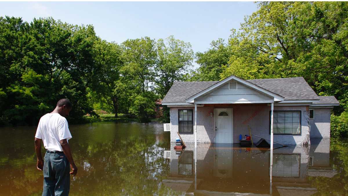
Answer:
[{"label": "clear pale blue sky above the treetops", "polygon": [[98,36],[117,43],[174,35],[203,52],[212,40],[227,41],[231,28],[239,29],[256,7],[253,2],[0,2],[0,15],[92,24]]}]

